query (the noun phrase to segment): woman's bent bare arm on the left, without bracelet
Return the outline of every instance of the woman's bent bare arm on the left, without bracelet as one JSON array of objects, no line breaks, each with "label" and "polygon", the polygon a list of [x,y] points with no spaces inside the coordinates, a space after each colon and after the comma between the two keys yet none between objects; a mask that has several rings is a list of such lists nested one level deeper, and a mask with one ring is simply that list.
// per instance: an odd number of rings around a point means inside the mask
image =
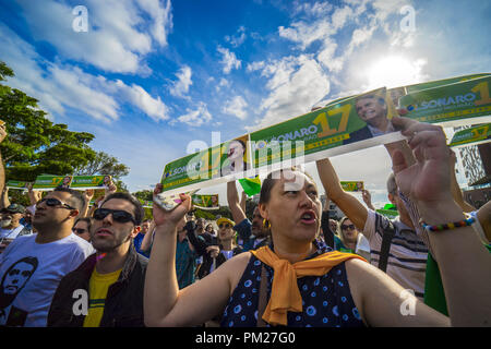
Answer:
[{"label": "woman's bent bare arm on the left, without bracelet", "polygon": [[[161,184],[157,184],[154,194],[160,191]],[[144,290],[147,326],[191,326],[211,320],[224,310],[238,282],[237,274],[241,275],[246,268],[244,257],[250,257],[248,253],[239,254],[199,282],[179,290],[176,276],[177,224],[191,207],[189,195],[181,198],[183,202],[171,212],[154,205],[156,230]]]}]

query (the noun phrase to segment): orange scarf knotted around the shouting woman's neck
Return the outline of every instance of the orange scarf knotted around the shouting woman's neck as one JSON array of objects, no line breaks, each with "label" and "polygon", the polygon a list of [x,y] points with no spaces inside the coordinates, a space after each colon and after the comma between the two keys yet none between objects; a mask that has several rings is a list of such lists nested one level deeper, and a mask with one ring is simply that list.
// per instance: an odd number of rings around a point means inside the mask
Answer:
[{"label": "orange scarf knotted around the shouting woman's neck", "polygon": [[271,325],[286,326],[287,312],[302,311],[302,297],[298,289],[297,278],[327,274],[332,267],[350,258],[367,262],[357,254],[338,251],[327,252],[295,264],[287,260],[280,260],[268,246],[250,252],[274,270],[271,298],[263,314],[263,320]]}]

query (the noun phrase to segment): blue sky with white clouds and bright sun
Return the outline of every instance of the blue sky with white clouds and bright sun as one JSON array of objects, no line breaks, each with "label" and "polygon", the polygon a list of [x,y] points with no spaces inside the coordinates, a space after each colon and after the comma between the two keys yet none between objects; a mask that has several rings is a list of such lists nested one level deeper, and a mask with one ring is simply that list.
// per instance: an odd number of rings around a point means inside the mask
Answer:
[{"label": "blue sky with white clouds and bright sun", "polygon": [[[190,142],[211,145],[212,132],[227,141],[322,100],[490,72],[490,1],[0,4],[0,59],[16,74],[8,83],[39,99],[55,122],[95,134],[95,149],[130,166],[131,191],[157,182]],[[87,32],[73,29],[76,5],[87,9]],[[385,201],[383,147],[333,164],[343,180],[364,180],[374,201]]]}]

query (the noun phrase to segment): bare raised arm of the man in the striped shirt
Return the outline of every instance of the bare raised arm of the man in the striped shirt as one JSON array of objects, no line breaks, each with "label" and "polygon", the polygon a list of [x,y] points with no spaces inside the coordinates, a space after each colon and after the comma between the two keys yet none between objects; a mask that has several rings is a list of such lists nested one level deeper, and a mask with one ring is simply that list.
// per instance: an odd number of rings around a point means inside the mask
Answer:
[{"label": "bare raised arm of the man in the striped shirt", "polygon": [[368,217],[367,207],[354,195],[343,190],[336,170],[328,158],[319,160],[316,165],[327,197],[345,213],[360,231],[363,231]]}]

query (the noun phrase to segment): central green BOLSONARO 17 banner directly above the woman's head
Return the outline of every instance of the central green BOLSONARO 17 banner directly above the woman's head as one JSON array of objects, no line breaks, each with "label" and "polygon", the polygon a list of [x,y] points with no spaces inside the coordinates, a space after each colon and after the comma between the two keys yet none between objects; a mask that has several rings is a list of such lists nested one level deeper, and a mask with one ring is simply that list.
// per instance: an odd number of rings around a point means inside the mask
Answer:
[{"label": "central green BOLSONARO 17 banner directly above the woman's head", "polygon": [[[302,158],[300,164],[309,163],[402,140],[391,122],[396,113],[385,87],[337,99],[324,108],[252,132],[252,165],[260,169],[291,163],[294,158]],[[373,140],[376,137],[380,139]]]}]

